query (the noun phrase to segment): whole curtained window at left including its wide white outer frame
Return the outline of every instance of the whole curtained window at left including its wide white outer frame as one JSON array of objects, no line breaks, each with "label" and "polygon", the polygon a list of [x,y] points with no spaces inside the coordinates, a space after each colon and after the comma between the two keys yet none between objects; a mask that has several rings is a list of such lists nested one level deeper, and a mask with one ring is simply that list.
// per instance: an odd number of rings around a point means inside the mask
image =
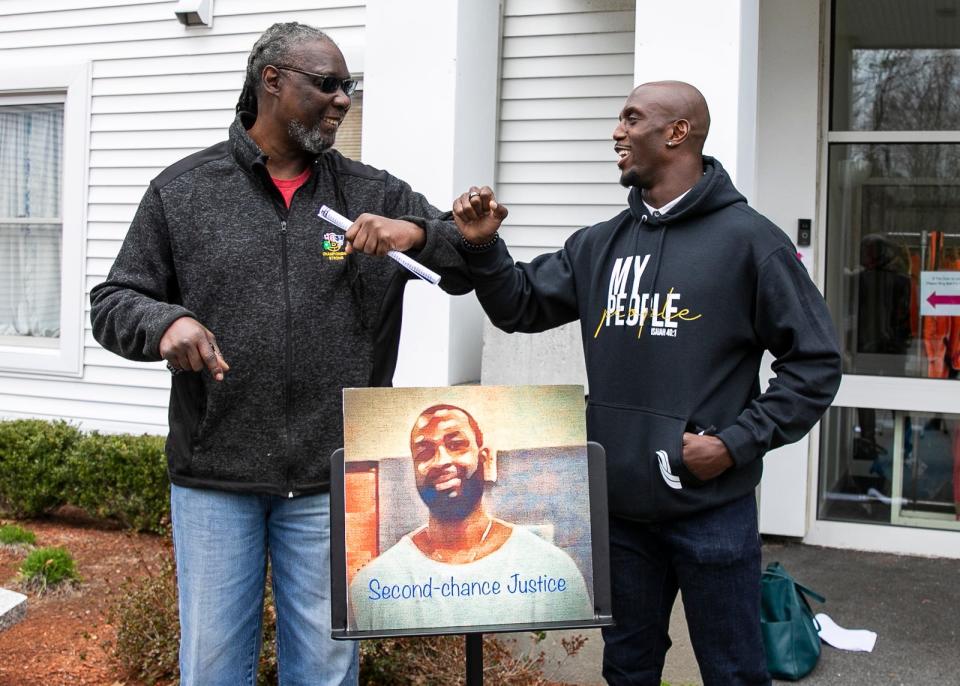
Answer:
[{"label": "whole curtained window at left including its wide white outer frame", "polygon": [[0,375],[82,371],[89,64],[0,70]]}]

